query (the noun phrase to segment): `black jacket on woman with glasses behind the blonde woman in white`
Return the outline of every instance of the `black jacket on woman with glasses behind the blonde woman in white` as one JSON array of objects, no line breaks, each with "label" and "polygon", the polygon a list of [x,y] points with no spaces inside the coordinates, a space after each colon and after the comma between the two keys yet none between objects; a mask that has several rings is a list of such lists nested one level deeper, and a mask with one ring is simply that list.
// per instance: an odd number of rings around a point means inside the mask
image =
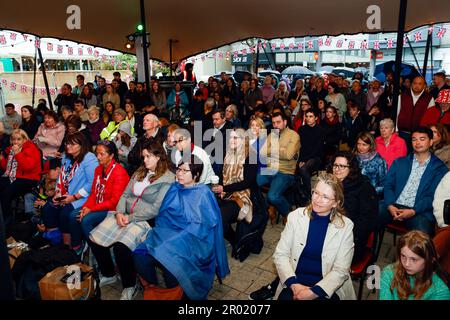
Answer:
[{"label": "black jacket on woman with glasses behind the blonde woman in white", "polygon": [[343,185],[345,215],[354,224],[355,253],[353,261],[356,261],[363,255],[369,235],[375,230],[378,198],[366,176],[359,175],[351,181],[346,178]]}]

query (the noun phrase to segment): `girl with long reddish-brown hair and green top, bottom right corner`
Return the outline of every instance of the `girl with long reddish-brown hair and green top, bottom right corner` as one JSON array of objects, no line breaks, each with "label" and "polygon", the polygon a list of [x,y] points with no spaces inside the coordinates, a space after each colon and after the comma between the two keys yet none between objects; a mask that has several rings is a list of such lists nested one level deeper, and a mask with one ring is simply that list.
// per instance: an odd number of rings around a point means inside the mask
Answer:
[{"label": "girl with long reddish-brown hair and green top, bottom right corner", "polygon": [[398,242],[397,261],[381,273],[380,300],[450,300],[450,290],[441,277],[430,237],[410,231]]}]

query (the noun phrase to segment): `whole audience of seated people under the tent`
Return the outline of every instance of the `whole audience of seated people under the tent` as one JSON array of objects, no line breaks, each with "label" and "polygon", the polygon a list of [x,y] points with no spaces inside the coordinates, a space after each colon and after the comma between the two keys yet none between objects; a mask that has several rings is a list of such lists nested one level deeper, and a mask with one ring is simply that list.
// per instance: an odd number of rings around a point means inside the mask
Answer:
[{"label": "whole audience of seated people under the tent", "polygon": [[[240,261],[259,253],[278,214],[285,224],[274,253],[279,277],[251,298],[302,300],[354,299],[351,264],[371,234],[395,222],[411,232],[383,273],[380,297],[446,297],[424,278],[439,277],[440,265],[450,271],[450,89],[442,74],[434,86],[417,77],[402,88],[397,126],[387,102],[392,77],[349,86],[331,73],[275,88],[271,76],[262,87],[257,78],[222,76],[190,93],[156,79],[150,88],[127,84],[118,72],[111,83],[79,75],[73,89],[63,85],[56,111],[42,101],[36,110],[21,106],[20,115],[6,104],[6,229],[15,223],[13,199],[23,196],[21,219],[80,259],[90,248],[100,286],[120,276],[121,299],[134,299],[141,284],[162,286],[158,268],[167,289],[205,299],[214,277],[230,273],[226,244]],[[314,183],[318,171],[327,173]],[[47,200],[35,198],[51,177]],[[287,193],[298,183],[308,197],[293,211],[298,204]],[[38,222],[35,207],[42,207]],[[409,272],[404,259],[413,255],[430,266]]]}]

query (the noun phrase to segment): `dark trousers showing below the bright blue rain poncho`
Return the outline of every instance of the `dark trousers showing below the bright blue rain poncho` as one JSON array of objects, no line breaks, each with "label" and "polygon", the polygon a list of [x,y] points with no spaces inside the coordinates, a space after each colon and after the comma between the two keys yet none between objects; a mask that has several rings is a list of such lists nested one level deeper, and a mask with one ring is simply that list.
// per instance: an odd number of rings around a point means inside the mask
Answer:
[{"label": "dark trousers showing below the bright blue rain poncho", "polygon": [[166,288],[175,288],[178,280],[170,273],[158,260],[149,254],[134,254],[134,263],[138,274],[144,278],[149,284],[158,286],[158,278],[156,277],[156,268],[159,267],[163,271],[163,278]]}]

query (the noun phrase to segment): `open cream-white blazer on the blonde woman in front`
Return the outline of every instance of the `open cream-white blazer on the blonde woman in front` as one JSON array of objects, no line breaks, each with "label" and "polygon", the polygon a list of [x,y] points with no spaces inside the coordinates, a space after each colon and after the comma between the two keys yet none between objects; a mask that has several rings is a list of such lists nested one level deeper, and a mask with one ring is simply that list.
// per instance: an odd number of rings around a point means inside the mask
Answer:
[{"label": "open cream-white blazer on the blonde woman in front", "polygon": [[[273,255],[273,260],[280,276],[277,297],[285,281],[295,277],[298,259],[303,252],[308,238],[310,218],[305,208],[298,208],[288,216],[287,224],[281,233],[280,241]],[[317,285],[328,297],[336,293],[341,300],[355,300],[355,289],[350,278],[350,267],[353,259],[353,222],[344,218],[342,227],[330,223],[325,235],[322,250],[322,276]]]}]

